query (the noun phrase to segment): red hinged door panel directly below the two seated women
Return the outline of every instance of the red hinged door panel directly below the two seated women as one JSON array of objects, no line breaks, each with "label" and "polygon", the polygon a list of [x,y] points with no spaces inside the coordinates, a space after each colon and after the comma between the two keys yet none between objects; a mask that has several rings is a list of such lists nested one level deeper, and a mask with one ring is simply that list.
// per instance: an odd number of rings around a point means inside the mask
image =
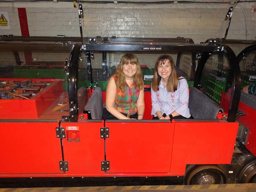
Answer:
[{"label": "red hinged door panel directly below the two seated women", "polygon": [[170,172],[174,125],[170,122],[106,122],[107,174]]}]

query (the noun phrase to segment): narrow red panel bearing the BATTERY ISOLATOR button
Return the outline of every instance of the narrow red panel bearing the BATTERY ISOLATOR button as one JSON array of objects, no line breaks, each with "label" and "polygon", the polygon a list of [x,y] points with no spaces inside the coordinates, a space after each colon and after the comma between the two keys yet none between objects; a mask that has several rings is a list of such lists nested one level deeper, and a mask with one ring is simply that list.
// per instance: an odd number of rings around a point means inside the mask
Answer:
[{"label": "narrow red panel bearing the BATTERY ISOLATOR button", "polygon": [[[67,133],[68,127],[73,127],[75,132],[80,135],[79,142],[68,142],[63,139],[64,159],[68,161],[67,175],[80,176],[100,176],[105,172],[101,171],[101,161],[104,161],[104,139],[100,138],[100,128],[102,122],[83,122],[83,123],[61,123]],[[69,132],[69,134],[71,134]]]}]

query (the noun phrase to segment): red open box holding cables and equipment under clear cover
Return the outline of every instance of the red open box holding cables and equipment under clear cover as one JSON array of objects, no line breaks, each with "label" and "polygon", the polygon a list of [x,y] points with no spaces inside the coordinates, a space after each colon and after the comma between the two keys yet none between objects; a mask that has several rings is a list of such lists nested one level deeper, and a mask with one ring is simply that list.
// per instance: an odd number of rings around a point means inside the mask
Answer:
[{"label": "red open box holding cables and equipment under clear cover", "polygon": [[[26,81],[29,79],[0,79],[4,81]],[[54,79],[32,79],[32,81],[52,82],[29,100],[1,99],[1,119],[37,119],[63,92],[62,81]]]}]

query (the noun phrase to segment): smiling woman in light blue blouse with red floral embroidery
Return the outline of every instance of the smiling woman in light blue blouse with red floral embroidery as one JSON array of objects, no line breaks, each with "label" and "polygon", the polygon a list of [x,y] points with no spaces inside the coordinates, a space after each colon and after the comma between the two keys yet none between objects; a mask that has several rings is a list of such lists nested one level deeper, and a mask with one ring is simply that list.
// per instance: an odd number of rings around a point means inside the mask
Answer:
[{"label": "smiling woman in light blue blouse with red floral embroidery", "polygon": [[174,61],[169,55],[158,57],[151,84],[153,119],[186,119],[188,108],[188,83],[178,76]]}]

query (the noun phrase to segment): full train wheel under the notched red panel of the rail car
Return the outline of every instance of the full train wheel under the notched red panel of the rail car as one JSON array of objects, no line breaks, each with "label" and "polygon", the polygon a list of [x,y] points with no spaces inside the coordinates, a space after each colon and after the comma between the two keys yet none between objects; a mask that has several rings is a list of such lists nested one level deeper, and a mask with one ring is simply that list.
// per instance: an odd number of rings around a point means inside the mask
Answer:
[{"label": "full train wheel under the notched red panel of the rail car", "polygon": [[207,185],[226,183],[224,172],[215,165],[201,165],[190,169],[185,177],[186,185]]}]

